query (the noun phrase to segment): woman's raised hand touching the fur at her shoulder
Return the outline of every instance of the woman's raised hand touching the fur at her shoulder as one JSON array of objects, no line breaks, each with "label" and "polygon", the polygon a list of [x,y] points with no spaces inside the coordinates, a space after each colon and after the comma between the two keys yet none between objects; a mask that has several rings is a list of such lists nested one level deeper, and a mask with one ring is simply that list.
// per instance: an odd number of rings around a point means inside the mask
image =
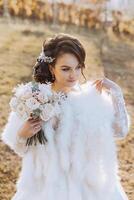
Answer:
[{"label": "woman's raised hand touching the fur at her shoulder", "polygon": [[115,82],[111,81],[110,79],[104,77],[102,79],[98,79],[93,82],[92,85],[96,86],[96,89],[101,93],[103,89],[105,90],[120,90],[119,85],[117,85]]}]

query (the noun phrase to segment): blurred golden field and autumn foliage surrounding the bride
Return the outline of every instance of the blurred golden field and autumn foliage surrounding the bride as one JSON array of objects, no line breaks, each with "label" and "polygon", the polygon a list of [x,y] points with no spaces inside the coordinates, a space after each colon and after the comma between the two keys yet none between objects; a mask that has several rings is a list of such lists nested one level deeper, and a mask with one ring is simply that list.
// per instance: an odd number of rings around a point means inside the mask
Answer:
[{"label": "blurred golden field and autumn foliage surrounding the bride", "polygon": [[[43,41],[60,32],[83,43],[87,79],[105,75],[122,88],[131,128],[124,140],[116,141],[119,174],[134,200],[133,0],[0,0],[0,132],[13,87],[31,81]],[[20,169],[21,158],[0,141],[0,200],[13,196]]]}]

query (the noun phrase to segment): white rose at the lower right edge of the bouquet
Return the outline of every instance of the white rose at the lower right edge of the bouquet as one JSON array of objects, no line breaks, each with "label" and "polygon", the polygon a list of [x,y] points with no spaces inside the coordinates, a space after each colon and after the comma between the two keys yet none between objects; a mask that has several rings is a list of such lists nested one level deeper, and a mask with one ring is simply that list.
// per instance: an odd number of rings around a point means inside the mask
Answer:
[{"label": "white rose at the lower right edge of the bouquet", "polygon": [[54,115],[54,107],[51,104],[46,104],[40,115],[43,121],[48,121]]}]

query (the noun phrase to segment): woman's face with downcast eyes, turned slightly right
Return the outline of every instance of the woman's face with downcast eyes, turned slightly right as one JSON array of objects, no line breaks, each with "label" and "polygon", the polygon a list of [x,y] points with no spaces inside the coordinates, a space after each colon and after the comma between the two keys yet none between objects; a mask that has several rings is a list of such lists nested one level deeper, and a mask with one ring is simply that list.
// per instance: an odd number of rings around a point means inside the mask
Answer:
[{"label": "woman's face with downcast eyes, turned slightly right", "polygon": [[71,88],[79,81],[81,66],[73,54],[65,53],[58,57],[55,67],[51,68],[55,82],[59,87]]}]

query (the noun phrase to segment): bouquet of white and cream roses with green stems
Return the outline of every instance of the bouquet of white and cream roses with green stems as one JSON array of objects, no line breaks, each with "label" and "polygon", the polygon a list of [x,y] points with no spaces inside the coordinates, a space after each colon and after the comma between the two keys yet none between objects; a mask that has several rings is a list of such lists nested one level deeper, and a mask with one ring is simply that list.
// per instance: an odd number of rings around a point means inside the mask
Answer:
[{"label": "bouquet of white and cream roses with green stems", "polygon": [[[60,114],[61,100],[67,97],[64,93],[52,92],[49,85],[37,82],[29,82],[20,84],[13,89],[14,95],[10,100],[11,110],[16,112],[24,121],[29,117],[41,118],[48,121],[53,116]],[[34,145],[39,142],[45,144],[47,138],[41,129],[37,134],[30,137],[26,141],[26,145]]]}]

